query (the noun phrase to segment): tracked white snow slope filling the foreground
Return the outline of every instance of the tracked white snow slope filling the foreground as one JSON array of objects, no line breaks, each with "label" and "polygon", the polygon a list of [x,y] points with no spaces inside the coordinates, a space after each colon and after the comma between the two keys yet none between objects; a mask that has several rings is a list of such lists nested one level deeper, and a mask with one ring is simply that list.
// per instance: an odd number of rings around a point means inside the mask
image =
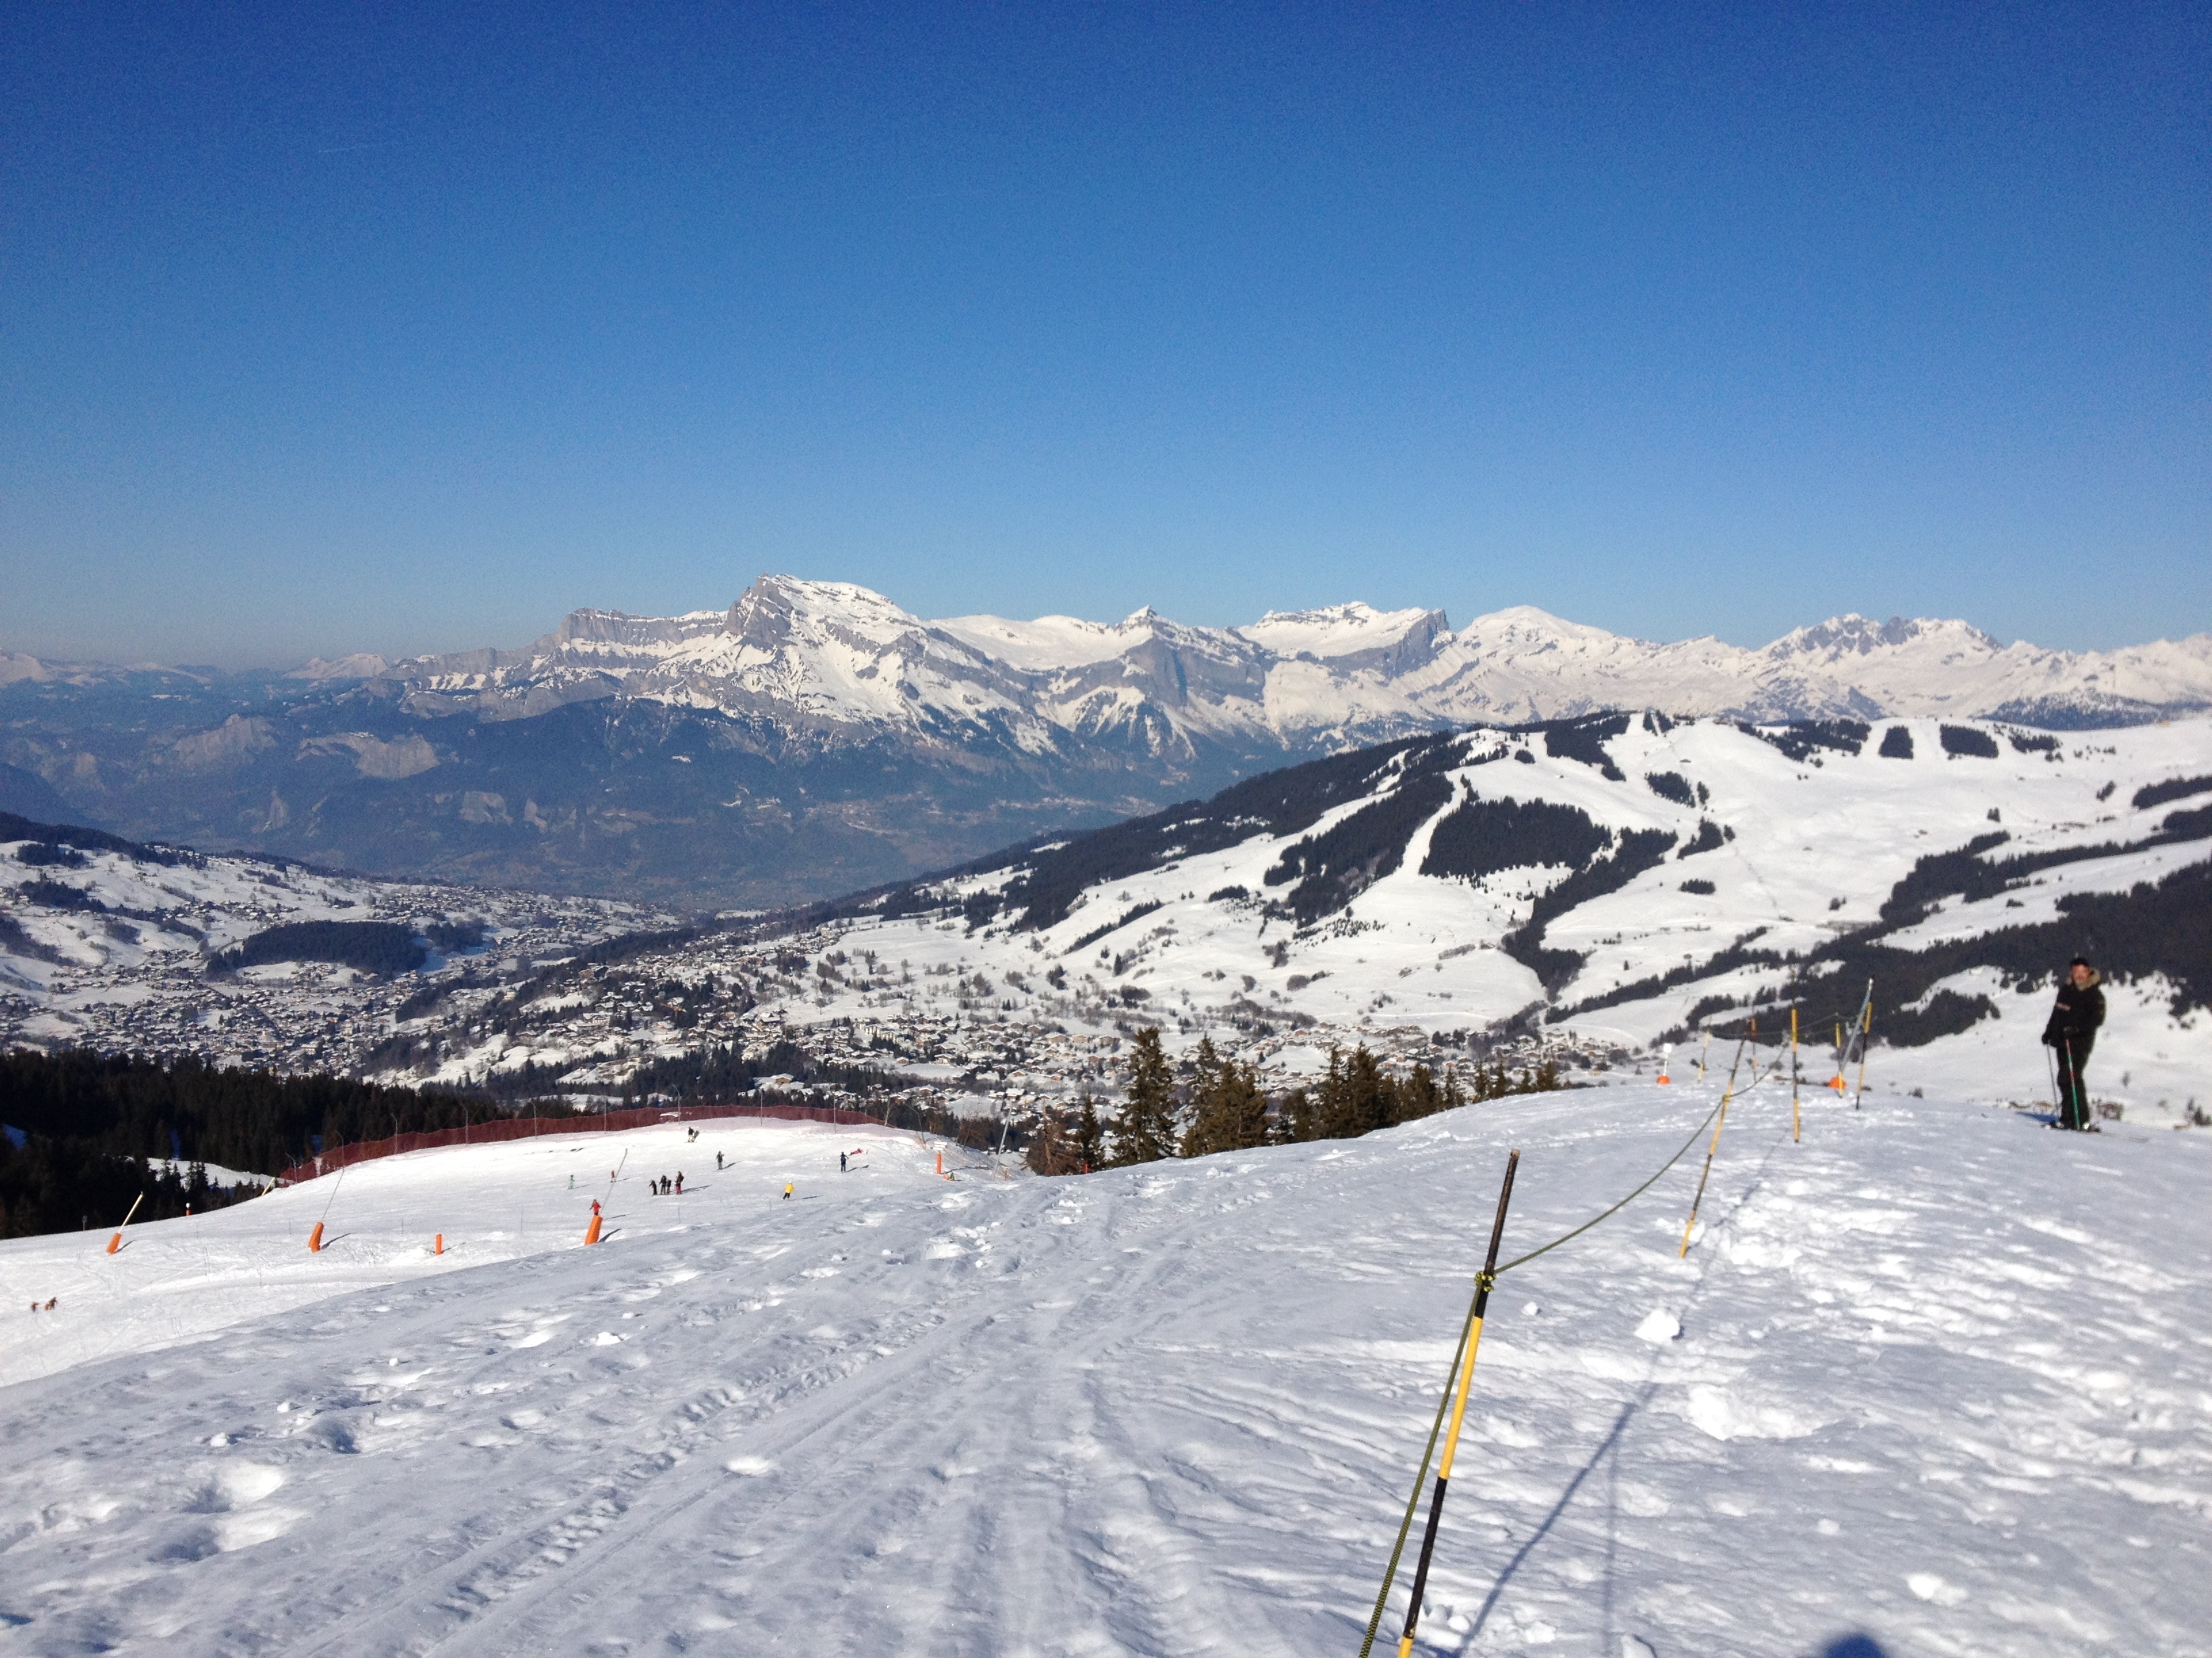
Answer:
[{"label": "tracked white snow slope filling the foreground", "polygon": [[[664,1125],[7,1242],[0,1651],[1349,1658],[1506,1147],[1511,1256],[1712,1099],[1066,1180]],[[1500,1282],[1425,1649],[2212,1651],[2212,1134],[1765,1085],[1677,1260],[1701,1156]]]}]

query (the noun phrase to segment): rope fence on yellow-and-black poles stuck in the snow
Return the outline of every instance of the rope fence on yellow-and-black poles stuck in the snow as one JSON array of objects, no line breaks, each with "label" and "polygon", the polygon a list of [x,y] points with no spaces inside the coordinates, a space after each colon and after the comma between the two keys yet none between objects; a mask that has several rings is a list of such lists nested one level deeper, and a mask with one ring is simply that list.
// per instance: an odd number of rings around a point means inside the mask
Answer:
[{"label": "rope fence on yellow-and-black poles stuck in the snow", "polygon": [[[1869,986],[1869,1004],[1871,1004],[1871,986]],[[1863,1030],[1865,1028],[1871,1028],[1871,1021],[1863,1021]],[[1681,1163],[1690,1154],[1690,1150],[1699,1143],[1699,1138],[1705,1134],[1705,1130],[1710,1127],[1712,1130],[1712,1143],[1705,1147],[1705,1169],[1699,1176],[1697,1196],[1690,1200],[1690,1218],[1683,1225],[1683,1234],[1681,1234],[1679,1256],[1688,1256],[1690,1253],[1690,1234],[1697,1227],[1697,1211],[1699,1211],[1699,1207],[1703,1203],[1703,1196],[1705,1196],[1705,1180],[1712,1176],[1712,1163],[1714,1163],[1714,1156],[1721,1150],[1721,1127],[1725,1127],[1725,1123],[1728,1123],[1728,1108],[1730,1108],[1732,1101],[1741,1101],[1745,1094],[1750,1094],[1761,1083],[1781,1079],[1783,1077],[1785,1059],[1787,1059],[1790,1110],[1792,1110],[1792,1134],[1790,1134],[1790,1138],[1792,1138],[1792,1143],[1796,1143],[1801,1138],[1798,1136],[1801,1072],[1798,1072],[1798,1066],[1796,1066],[1796,1028],[1792,1026],[1792,1039],[1790,1041],[1778,1043],[1778,1052],[1774,1054],[1772,1063],[1763,1063],[1761,1061],[1761,1054],[1759,1054],[1759,1050],[1756,1050],[1754,1043],[1756,1043],[1756,1024],[1752,1024],[1745,1030],[1745,1035],[1739,1037],[1739,1041],[1736,1041],[1736,1057],[1734,1057],[1734,1063],[1730,1063],[1730,1068],[1728,1068],[1728,1085],[1721,1090],[1721,1099],[1714,1101],[1712,1110],[1705,1112],[1705,1116],[1699,1121],[1699,1125],[1690,1130],[1690,1134],[1674,1150],[1674,1154],[1666,1163],[1661,1163],[1657,1169],[1652,1169],[1641,1183],[1637,1183],[1637,1187],[1630,1189],[1628,1196],[1624,1196],[1619,1203],[1613,1203],[1613,1205],[1599,1209],[1595,1216],[1590,1216],[1582,1225],[1568,1227],[1566,1231],[1562,1231],[1551,1242],[1537,1245],[1535,1249],[1531,1249],[1526,1253],[1520,1253],[1520,1256],[1515,1256],[1513,1260],[1509,1260],[1509,1262],[1504,1262],[1500,1267],[1498,1265],[1498,1247],[1500,1247],[1500,1242],[1504,1238],[1506,1205],[1511,1203],[1511,1196],[1513,1196],[1513,1176],[1515,1176],[1515,1169],[1520,1167],[1520,1152],[1515,1150],[1515,1152],[1509,1154],[1509,1158],[1506,1158],[1506,1174],[1504,1174],[1504,1187],[1498,1194],[1498,1220],[1495,1220],[1495,1225],[1491,1229],[1489,1258],[1482,1262],[1482,1269],[1475,1273],[1473,1300],[1469,1302],[1467,1315],[1460,1322],[1460,1340],[1458,1340],[1458,1346],[1451,1353],[1451,1368],[1444,1373],[1444,1393],[1436,1402],[1436,1421],[1429,1426],[1429,1444],[1420,1452],[1420,1470],[1413,1475],[1413,1492],[1411,1492],[1411,1497],[1407,1497],[1405,1519],[1398,1523],[1398,1539],[1396,1539],[1396,1543],[1391,1543],[1389,1565],[1383,1570],[1383,1589],[1376,1594],[1374,1614],[1367,1620],[1367,1636],[1365,1636],[1365,1640],[1360,1640],[1360,1658],[1369,1658],[1369,1654],[1374,1651],[1374,1645],[1376,1645],[1376,1634],[1383,1629],[1383,1614],[1389,1609],[1389,1594],[1391,1594],[1391,1589],[1398,1583],[1398,1565],[1405,1559],[1405,1543],[1407,1543],[1407,1536],[1413,1530],[1413,1514],[1420,1510],[1420,1492],[1422,1492],[1422,1488],[1429,1481],[1429,1468],[1431,1468],[1431,1463],[1436,1463],[1438,1439],[1442,1439],[1444,1441],[1444,1461],[1442,1461],[1442,1468],[1440,1468],[1438,1479],[1436,1479],[1436,1490],[1433,1490],[1433,1494],[1429,1499],[1429,1525],[1427,1525],[1427,1532],[1422,1536],[1422,1547],[1420,1547],[1420,1561],[1418,1561],[1418,1567],[1416,1567],[1413,1592],[1411,1592],[1411,1598],[1407,1601],[1405,1631],[1398,1638],[1398,1658],[1409,1658],[1409,1654],[1413,1651],[1416,1631],[1420,1627],[1422,1589],[1427,1587],[1427,1576],[1429,1576],[1429,1556],[1431,1556],[1431,1552],[1436,1547],[1436,1530],[1438,1530],[1438,1521],[1442,1519],[1442,1510],[1444,1510],[1444,1490],[1447,1490],[1449,1475],[1451,1475],[1453,1450],[1458,1448],[1460,1424],[1462,1424],[1462,1419],[1467,1415],[1467,1397],[1469,1397],[1471,1386],[1473,1386],[1475,1351],[1478,1351],[1478,1346],[1482,1342],[1482,1318],[1484,1318],[1484,1313],[1489,1309],[1491,1291],[1498,1287],[1498,1280],[1504,1278],[1515,1267],[1526,1267],[1537,1256],[1548,1256],[1559,1245],[1571,1242],[1571,1240],[1579,1238],[1582,1234],[1590,1231],[1593,1227],[1597,1227],[1597,1225],[1610,1220],[1613,1216],[1617,1216],[1630,1203],[1635,1203],[1646,1192],[1650,1192],[1668,1169],[1672,1169],[1677,1163]],[[1739,1077],[1739,1070],[1743,1066],[1743,1054],[1745,1054],[1747,1048],[1752,1050],[1752,1077],[1750,1077],[1750,1081],[1743,1083],[1743,1088],[1736,1088],[1736,1077]],[[1860,1090],[1865,1090],[1865,1050],[1863,1048],[1860,1048]],[[1444,1433],[1444,1417],[1447,1417],[1447,1413],[1451,1417],[1451,1433],[1449,1435]]]}]

